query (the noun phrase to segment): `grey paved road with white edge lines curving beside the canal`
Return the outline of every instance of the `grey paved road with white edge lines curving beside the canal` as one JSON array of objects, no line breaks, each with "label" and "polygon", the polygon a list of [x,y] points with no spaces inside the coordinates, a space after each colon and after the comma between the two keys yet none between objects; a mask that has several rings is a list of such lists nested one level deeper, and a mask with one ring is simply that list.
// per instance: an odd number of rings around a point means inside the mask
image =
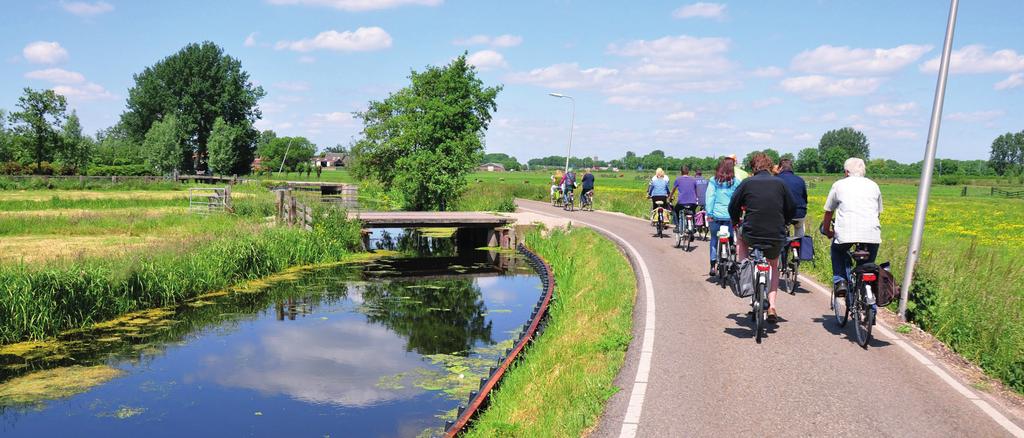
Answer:
[{"label": "grey paved road with white edge lines curving beside the canal", "polygon": [[[637,269],[634,341],[616,380],[622,390],[593,436],[1024,436],[1021,419],[962,385],[955,389],[941,366],[891,332],[883,328],[861,349],[852,326],[836,325],[823,293],[780,294],[781,319],[757,345],[749,301],[708,281],[706,243],[686,253],[635,218],[519,206],[618,236],[649,274],[650,295]],[[650,320],[653,327],[645,326]]]}]

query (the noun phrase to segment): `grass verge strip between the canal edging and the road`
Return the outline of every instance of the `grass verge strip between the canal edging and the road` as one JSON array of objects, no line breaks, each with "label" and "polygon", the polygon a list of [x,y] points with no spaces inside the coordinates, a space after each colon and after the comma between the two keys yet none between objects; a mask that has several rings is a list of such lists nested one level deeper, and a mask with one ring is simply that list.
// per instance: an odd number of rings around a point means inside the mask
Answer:
[{"label": "grass verge strip between the canal edging and the road", "polygon": [[554,269],[550,323],[506,375],[470,436],[578,437],[593,428],[631,340],[636,276],[590,229],[532,231],[526,243]]}]

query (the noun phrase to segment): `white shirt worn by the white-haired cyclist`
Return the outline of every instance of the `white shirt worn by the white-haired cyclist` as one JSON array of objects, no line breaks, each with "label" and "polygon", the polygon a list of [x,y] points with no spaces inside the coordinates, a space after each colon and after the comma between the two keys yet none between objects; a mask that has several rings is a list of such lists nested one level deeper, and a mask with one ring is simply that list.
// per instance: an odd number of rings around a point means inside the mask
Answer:
[{"label": "white shirt worn by the white-haired cyclist", "polygon": [[837,244],[881,244],[882,190],[874,181],[848,176],[833,184],[825,211],[836,212]]}]

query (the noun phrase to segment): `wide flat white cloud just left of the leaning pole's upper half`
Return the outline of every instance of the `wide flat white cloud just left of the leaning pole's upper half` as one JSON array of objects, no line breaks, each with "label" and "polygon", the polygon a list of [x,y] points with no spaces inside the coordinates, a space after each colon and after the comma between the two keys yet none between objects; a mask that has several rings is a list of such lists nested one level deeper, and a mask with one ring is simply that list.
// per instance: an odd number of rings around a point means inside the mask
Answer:
[{"label": "wide flat white cloud just left of the leaning pole's upper half", "polygon": [[863,76],[898,71],[932,49],[931,46],[904,44],[891,49],[857,49],[846,46],[818,46],[793,58],[799,72]]}]

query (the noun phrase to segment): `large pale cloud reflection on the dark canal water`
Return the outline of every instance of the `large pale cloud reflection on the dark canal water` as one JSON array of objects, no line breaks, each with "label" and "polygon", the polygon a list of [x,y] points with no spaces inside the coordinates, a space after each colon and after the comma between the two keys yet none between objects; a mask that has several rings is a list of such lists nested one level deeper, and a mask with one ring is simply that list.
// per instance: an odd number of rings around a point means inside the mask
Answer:
[{"label": "large pale cloud reflection on the dark canal water", "polygon": [[[361,407],[404,399],[418,388],[385,390],[382,376],[422,362],[406,342],[384,327],[351,320],[332,324],[274,326],[255,348],[234,348],[204,360],[204,377],[216,383],[313,402]],[[250,346],[252,347],[252,346]]]}]

